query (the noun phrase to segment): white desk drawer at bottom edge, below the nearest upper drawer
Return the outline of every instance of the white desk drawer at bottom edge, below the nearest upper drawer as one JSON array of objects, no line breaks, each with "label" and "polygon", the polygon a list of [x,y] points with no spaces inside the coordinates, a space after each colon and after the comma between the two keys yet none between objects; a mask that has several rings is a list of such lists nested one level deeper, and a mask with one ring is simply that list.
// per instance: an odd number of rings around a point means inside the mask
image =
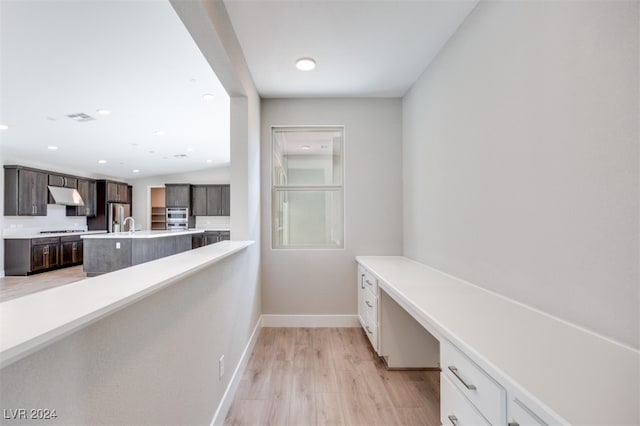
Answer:
[{"label": "white desk drawer at bottom edge, below the nearest upper drawer", "polygon": [[440,377],[440,423],[445,426],[490,425],[444,371]]}]

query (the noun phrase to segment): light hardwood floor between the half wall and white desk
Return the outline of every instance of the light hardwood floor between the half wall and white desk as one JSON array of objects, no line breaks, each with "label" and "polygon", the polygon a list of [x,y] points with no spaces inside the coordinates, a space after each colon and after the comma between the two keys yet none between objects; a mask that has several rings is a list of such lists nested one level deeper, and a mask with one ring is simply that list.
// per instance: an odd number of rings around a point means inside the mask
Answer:
[{"label": "light hardwood floor between the half wall and white desk", "polygon": [[225,425],[439,425],[437,371],[388,371],[360,328],[263,328]]}]

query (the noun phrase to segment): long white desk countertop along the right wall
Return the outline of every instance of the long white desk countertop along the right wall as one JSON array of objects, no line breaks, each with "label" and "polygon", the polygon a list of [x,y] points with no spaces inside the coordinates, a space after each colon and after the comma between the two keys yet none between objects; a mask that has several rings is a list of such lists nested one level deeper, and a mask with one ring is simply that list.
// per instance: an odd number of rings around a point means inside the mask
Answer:
[{"label": "long white desk countertop along the right wall", "polygon": [[404,257],[356,259],[508,392],[575,425],[640,424],[640,351]]}]

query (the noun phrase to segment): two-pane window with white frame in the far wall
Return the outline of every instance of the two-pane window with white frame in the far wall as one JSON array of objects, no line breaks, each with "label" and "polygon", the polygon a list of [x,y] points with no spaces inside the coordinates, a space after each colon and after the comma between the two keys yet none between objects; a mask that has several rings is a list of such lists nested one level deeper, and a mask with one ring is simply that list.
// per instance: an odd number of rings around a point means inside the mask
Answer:
[{"label": "two-pane window with white frame in the far wall", "polygon": [[272,128],[272,247],[344,247],[344,128]]}]

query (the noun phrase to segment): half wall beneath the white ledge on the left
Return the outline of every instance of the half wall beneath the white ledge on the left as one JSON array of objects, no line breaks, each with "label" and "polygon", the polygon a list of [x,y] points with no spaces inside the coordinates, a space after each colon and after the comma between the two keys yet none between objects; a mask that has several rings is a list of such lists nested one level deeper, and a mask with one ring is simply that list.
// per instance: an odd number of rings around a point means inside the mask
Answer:
[{"label": "half wall beneath the white ledge on the left", "polygon": [[1,408],[55,409],[45,424],[209,425],[258,320],[252,257],[227,257],[3,368]]}]

